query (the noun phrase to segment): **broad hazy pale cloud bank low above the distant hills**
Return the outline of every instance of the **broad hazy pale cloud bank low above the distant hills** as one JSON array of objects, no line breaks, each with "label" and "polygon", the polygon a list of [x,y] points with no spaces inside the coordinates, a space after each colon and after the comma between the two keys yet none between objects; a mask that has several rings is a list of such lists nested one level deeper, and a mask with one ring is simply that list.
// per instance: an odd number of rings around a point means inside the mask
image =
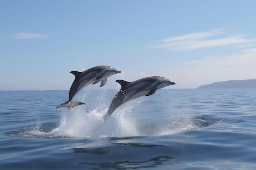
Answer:
[{"label": "broad hazy pale cloud bank low above the distant hills", "polygon": [[[180,63],[170,74],[177,88],[197,88],[227,80],[255,79],[256,48],[233,55],[207,56]],[[181,76],[182,75],[182,76]]]}]

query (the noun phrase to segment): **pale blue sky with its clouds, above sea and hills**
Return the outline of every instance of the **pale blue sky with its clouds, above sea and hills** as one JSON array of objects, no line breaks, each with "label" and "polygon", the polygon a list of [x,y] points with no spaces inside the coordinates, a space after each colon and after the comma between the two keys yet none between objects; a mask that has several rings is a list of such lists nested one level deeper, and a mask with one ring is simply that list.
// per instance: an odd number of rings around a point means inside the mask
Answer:
[{"label": "pale blue sky with its clouds, above sea and hills", "polygon": [[[256,79],[255,0],[1,0],[0,90],[69,90],[109,65],[168,88]],[[88,88],[98,89],[100,84]]]}]

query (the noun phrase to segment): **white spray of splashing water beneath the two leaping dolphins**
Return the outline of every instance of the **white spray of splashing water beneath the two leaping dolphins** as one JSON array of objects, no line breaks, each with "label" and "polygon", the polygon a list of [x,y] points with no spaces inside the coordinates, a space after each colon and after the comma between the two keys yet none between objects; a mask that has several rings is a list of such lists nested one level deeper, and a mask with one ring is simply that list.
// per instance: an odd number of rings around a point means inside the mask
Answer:
[{"label": "white spray of splashing water beneath the two leaping dolphins", "polygon": [[164,114],[160,113],[161,110],[159,113],[157,110],[152,113],[147,109],[150,106],[143,101],[145,97],[122,104],[112,115],[106,117],[110,101],[106,102],[109,97],[106,97],[105,92],[98,96],[90,94],[92,92],[78,94],[78,101],[88,100],[93,95],[96,102],[63,108],[56,128],[44,132],[38,123],[36,127],[26,130],[26,134],[45,138],[157,136],[195,128],[192,117],[186,114],[189,108],[182,108],[180,113],[176,113],[177,110],[170,103]]}]

